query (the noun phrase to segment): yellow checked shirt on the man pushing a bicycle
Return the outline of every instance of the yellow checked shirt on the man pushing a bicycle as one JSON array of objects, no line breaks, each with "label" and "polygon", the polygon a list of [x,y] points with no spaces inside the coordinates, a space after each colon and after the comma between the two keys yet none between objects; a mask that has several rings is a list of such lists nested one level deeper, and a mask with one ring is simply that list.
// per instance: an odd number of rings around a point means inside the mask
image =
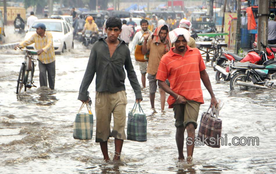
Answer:
[{"label": "yellow checked shirt on the man pushing a bicycle", "polygon": [[35,43],[35,48],[37,50],[43,50],[43,52],[38,56],[38,60],[40,60],[43,64],[49,64],[55,61],[55,50],[51,32],[46,31],[43,38],[35,33],[31,36],[30,39],[21,42],[19,45],[25,47],[33,43]]}]

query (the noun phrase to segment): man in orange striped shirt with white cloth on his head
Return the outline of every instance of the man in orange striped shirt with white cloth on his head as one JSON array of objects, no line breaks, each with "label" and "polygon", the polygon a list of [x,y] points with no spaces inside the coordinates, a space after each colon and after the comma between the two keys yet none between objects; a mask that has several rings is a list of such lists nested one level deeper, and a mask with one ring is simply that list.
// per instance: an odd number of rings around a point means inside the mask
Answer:
[{"label": "man in orange striped shirt with white cloth on his head", "polygon": [[[184,28],[176,28],[170,32],[175,47],[162,57],[156,76],[158,85],[170,94],[167,102],[174,111],[175,139],[180,161],[184,160],[184,131],[187,130],[188,137],[192,137],[194,142],[199,106],[204,103],[200,79],[211,95],[211,106],[218,104],[199,50],[187,46],[190,35]],[[165,83],[166,79],[170,81],[171,88]],[[187,162],[190,164],[194,144],[186,147]]]}]

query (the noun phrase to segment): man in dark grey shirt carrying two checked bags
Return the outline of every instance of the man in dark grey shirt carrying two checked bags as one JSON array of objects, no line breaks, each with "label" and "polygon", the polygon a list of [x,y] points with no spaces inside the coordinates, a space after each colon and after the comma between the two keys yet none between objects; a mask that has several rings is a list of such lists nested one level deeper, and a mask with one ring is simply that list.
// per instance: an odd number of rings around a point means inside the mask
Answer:
[{"label": "man in dark grey shirt carrying two checked bags", "polygon": [[[89,102],[87,89],[96,73],[96,142],[100,143],[104,160],[109,161],[107,140],[114,137],[115,154],[113,161],[119,161],[123,141],[126,139],[126,87],[128,79],[134,90],[136,102],[142,101],[141,87],[132,66],[130,52],[126,43],[118,39],[122,29],[120,19],[110,17],[106,21],[105,31],[107,37],[102,37],[95,42],[89,57],[87,68],[81,82],[78,99]],[[110,131],[111,114],[113,114],[114,127]]]}]

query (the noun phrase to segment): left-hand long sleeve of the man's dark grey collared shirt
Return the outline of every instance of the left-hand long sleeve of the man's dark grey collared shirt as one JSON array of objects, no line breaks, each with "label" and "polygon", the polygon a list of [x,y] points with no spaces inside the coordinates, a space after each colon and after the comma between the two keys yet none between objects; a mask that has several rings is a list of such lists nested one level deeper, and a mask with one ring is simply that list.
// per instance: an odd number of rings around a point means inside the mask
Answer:
[{"label": "left-hand long sleeve of the man's dark grey collared shirt", "polygon": [[94,75],[96,73],[96,59],[97,59],[97,53],[95,47],[92,48],[88,64],[85,70],[85,74],[83,76],[83,80],[80,85],[80,91],[78,95],[78,100],[81,101],[87,101],[89,99],[88,97],[88,88],[94,78]]}]

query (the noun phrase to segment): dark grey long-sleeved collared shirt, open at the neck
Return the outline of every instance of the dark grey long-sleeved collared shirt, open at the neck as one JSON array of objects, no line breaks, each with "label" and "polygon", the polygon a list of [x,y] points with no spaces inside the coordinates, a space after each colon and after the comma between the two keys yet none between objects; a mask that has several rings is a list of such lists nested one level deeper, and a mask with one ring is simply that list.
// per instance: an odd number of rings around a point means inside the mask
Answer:
[{"label": "dark grey long-sleeved collared shirt, open at the neck", "polygon": [[109,91],[111,93],[117,93],[119,91],[126,90],[126,73],[124,66],[136,99],[142,99],[141,86],[132,65],[130,51],[123,40],[119,39],[119,41],[120,43],[118,44],[112,57],[110,57],[110,52],[104,37],[94,43],[83,81],[80,85],[78,95],[79,100],[86,101],[88,99],[87,89],[91,84],[95,73],[96,91]]}]

